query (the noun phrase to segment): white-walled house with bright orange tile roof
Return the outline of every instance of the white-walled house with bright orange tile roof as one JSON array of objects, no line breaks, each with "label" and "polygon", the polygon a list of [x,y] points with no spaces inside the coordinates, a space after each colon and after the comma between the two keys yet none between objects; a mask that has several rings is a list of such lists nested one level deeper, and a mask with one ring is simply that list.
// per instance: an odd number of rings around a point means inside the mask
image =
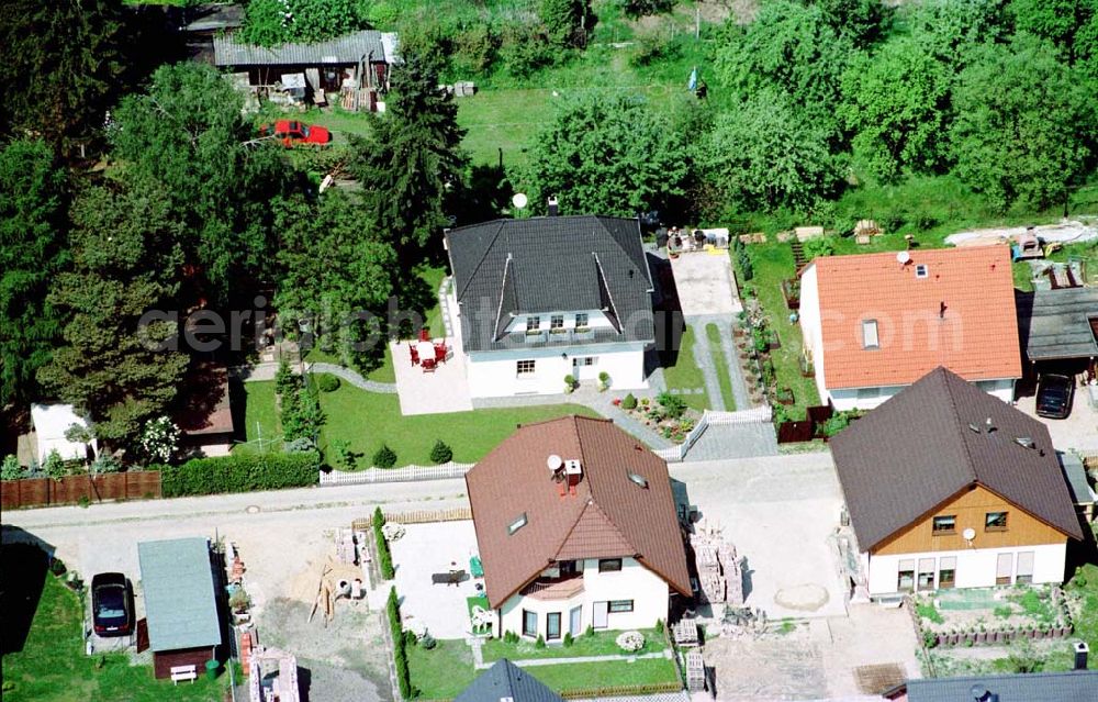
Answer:
[{"label": "white-walled house with bright orange tile roof", "polygon": [[938,366],[1010,402],[1022,375],[1009,246],[820,257],[799,314],[837,410],[873,409]]}]

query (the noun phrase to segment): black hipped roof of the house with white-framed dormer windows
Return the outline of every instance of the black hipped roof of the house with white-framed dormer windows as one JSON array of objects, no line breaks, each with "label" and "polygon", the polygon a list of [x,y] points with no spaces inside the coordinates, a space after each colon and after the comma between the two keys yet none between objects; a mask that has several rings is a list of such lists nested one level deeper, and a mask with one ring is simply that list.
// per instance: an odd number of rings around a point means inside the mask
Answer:
[{"label": "black hipped roof of the house with white-framed dormer windows", "polygon": [[466,350],[536,347],[506,336],[513,315],[603,310],[612,328],[570,344],[656,338],[652,278],[636,219],[548,216],[451,230],[446,246]]}]

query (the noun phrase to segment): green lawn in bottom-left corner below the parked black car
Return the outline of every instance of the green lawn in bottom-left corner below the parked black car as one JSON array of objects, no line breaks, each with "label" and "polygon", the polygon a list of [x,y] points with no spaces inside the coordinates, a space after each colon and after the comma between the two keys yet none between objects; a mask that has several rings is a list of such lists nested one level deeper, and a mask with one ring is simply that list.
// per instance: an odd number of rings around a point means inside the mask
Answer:
[{"label": "green lawn in bottom-left corner below the parked black car", "polygon": [[[12,567],[10,562],[5,567]],[[175,687],[156,680],[148,666],[131,666],[124,654],[85,656],[83,605],[51,575],[23,650],[3,657],[4,702],[173,702],[224,699],[228,677],[200,677]],[[9,686],[10,689],[9,689]]]}]

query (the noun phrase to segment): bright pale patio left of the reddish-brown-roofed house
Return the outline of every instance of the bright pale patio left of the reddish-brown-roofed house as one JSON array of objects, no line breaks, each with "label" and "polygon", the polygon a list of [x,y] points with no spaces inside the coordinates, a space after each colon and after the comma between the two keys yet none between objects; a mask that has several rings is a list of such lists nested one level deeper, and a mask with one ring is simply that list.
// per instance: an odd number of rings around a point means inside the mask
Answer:
[{"label": "bright pale patio left of the reddish-brown-roofed house", "polygon": [[[396,566],[396,592],[408,626],[426,626],[435,638],[464,638],[472,633],[468,598],[475,597],[469,559],[477,554],[473,523],[408,524],[403,537],[390,544]],[[455,566],[464,576],[457,584],[435,583]]]}]

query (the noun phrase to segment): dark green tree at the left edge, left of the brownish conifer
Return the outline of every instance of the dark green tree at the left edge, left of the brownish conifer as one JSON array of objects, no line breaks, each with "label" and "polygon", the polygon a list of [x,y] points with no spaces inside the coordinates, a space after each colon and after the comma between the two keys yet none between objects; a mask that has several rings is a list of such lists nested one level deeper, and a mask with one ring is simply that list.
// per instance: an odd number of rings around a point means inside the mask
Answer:
[{"label": "dark green tree at the left edge, left of the brownish conifer", "polygon": [[33,398],[35,371],[60,335],[46,293],[68,263],[67,199],[65,172],[44,142],[0,148],[0,406]]}]

